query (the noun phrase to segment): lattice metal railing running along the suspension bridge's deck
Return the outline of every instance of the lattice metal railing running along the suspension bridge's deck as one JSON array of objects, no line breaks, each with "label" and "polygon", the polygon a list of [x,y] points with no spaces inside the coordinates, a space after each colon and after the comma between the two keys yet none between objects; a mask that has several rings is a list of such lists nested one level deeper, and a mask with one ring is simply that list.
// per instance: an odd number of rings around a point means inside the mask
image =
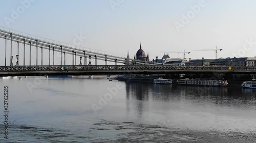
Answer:
[{"label": "lattice metal railing running along the suspension bridge's deck", "polygon": [[256,71],[256,67],[226,67],[226,66],[0,66],[0,72],[26,71]]}]

